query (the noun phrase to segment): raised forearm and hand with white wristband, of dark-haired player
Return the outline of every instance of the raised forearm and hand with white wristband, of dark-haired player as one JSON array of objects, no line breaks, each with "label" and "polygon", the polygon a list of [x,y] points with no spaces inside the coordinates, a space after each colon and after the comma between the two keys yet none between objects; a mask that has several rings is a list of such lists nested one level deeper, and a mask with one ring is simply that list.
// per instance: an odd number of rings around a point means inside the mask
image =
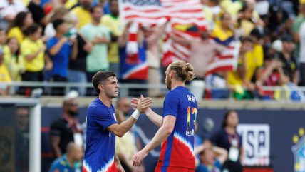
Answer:
[{"label": "raised forearm and hand with white wristband, of dark-haired player", "polygon": [[128,118],[128,120],[124,121],[123,123],[113,123],[112,125],[108,126],[108,131],[111,131],[115,134],[115,136],[122,137],[124,136],[127,131],[130,130],[131,127],[135,124],[140,113],[143,113],[145,108],[150,107],[152,104],[151,98],[143,98],[139,101],[137,109],[133,112],[133,114]]}]

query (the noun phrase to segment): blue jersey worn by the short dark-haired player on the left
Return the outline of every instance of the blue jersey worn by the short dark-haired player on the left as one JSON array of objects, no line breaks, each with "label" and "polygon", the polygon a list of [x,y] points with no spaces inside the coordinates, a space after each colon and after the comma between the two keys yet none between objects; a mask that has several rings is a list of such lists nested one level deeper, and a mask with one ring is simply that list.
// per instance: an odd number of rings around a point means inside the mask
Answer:
[{"label": "blue jersey worn by the short dark-haired player on the left", "polygon": [[83,172],[116,171],[115,135],[107,130],[113,123],[116,123],[113,105],[108,108],[100,99],[95,98],[87,111],[87,140]]}]

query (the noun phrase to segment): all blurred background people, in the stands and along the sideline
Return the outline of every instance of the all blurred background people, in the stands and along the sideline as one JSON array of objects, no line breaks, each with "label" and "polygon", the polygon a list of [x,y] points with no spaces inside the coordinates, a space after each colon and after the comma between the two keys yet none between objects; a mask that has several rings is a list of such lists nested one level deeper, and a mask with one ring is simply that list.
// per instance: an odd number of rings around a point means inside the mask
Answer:
[{"label": "all blurred background people, in the stands and along the sideline", "polygon": [[[207,26],[191,27],[200,40],[186,40],[170,35],[171,39],[190,46],[189,62],[194,66],[204,98],[235,98],[304,101],[305,86],[305,1],[304,0],[202,0],[202,16]],[[0,95],[31,96],[41,86],[10,86],[12,81],[47,83],[78,83],[64,97],[63,115],[51,126],[49,138],[43,143],[55,160],[50,171],[81,171],[83,145],[86,143],[86,123],[78,121],[78,96],[93,96],[86,86],[93,74],[112,70],[120,83],[155,84],[155,88],[137,88],[128,96],[159,97],[165,91],[157,85],[164,83],[167,68],[161,46],[167,23],[160,27],[141,27],[135,36],[138,59],[128,57],[132,23],[120,18],[117,0],[1,0],[0,1]],[[219,69],[205,74],[207,57],[224,51],[239,41],[237,68]],[[128,60],[126,60],[128,58]],[[129,65],[128,63],[135,64]],[[131,67],[145,64],[148,74],[128,75]],[[192,87],[192,83],[190,83]],[[281,86],[284,91],[270,86]],[[64,85],[43,88],[44,95],[64,95]],[[198,88],[198,87],[197,87]],[[116,105],[118,123],[130,115],[130,103],[120,98]],[[83,112],[83,114],[86,112]],[[29,171],[29,109],[16,110],[15,171]],[[53,116],[54,117],[54,116]],[[52,118],[53,119],[53,118]],[[222,128],[202,141],[195,138],[197,171],[240,171],[242,138],[237,134],[239,118],[236,111],[224,116]],[[43,130],[42,130],[43,131]],[[133,154],[142,148],[137,128],[117,139],[116,152],[125,171],[148,171],[144,166],[132,166]],[[304,134],[304,131],[303,131]],[[214,146],[213,146],[214,145]],[[230,148],[237,155],[229,155]],[[235,152],[236,153],[236,152]],[[57,159],[56,159],[57,158]],[[51,164],[43,163],[43,171]],[[224,165],[224,167],[222,167]],[[150,167],[153,168],[153,167]]]}]

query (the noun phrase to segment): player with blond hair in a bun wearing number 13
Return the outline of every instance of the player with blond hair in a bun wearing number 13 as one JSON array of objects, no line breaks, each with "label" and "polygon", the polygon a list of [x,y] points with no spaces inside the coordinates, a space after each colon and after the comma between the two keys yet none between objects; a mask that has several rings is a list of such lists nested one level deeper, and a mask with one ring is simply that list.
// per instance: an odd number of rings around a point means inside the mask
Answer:
[{"label": "player with blond hair in a bun wearing number 13", "polygon": [[[165,96],[162,116],[150,108],[145,114],[159,126],[153,139],[133,157],[138,166],[148,153],[162,143],[155,172],[194,172],[194,135],[197,117],[195,96],[185,87],[185,81],[194,79],[190,64],[175,61],[166,70],[165,84],[170,90]],[[132,103],[137,104],[138,99]]]}]

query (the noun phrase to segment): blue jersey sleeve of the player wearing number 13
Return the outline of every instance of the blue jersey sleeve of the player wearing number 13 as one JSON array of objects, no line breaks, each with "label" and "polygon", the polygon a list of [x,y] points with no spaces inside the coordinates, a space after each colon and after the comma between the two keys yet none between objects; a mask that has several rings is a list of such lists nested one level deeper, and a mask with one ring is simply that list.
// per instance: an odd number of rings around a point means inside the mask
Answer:
[{"label": "blue jersey sleeve of the player wearing number 13", "polygon": [[172,115],[177,118],[178,115],[178,106],[179,106],[179,98],[177,94],[174,92],[169,92],[165,96],[164,100],[164,111],[163,111],[163,117]]}]

